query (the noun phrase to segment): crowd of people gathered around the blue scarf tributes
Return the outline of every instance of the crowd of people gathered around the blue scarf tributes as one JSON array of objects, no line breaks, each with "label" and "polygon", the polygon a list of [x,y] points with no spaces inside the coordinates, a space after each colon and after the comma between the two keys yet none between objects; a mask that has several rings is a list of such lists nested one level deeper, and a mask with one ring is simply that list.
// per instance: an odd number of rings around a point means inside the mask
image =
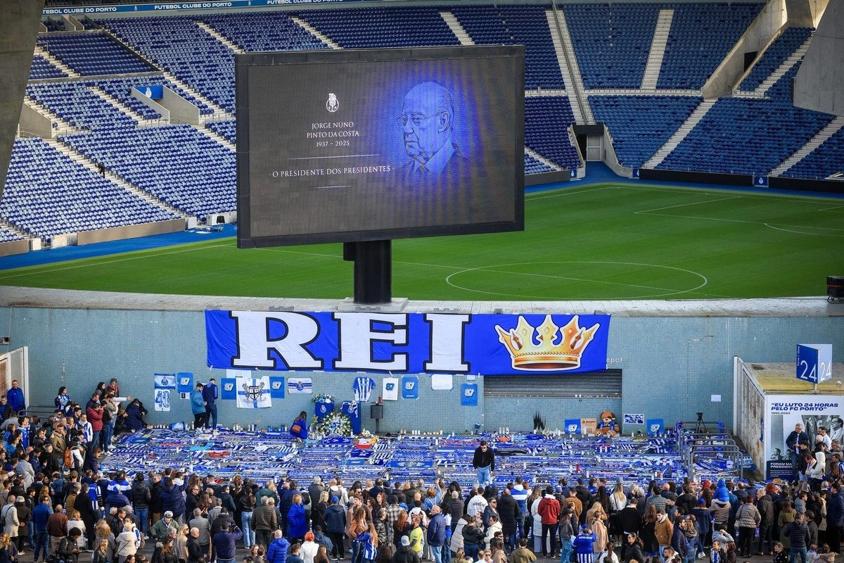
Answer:
[{"label": "crowd of people gathered around the blue scarf tributes", "polygon": [[[214,388],[196,393],[197,411],[200,399],[207,408],[217,398]],[[25,410],[14,382],[0,397],[0,563],[29,549],[35,563],[77,563],[83,553],[94,563],[233,563],[241,545],[243,563],[736,563],[754,554],[834,563],[841,549],[841,458],[823,440],[800,479],[782,487],[593,477],[500,489],[495,452],[481,441],[479,485],[467,493],[444,480],[347,488],[338,476],[258,484],[178,468],[103,474],[99,458],[115,433],[143,427],[146,412],[116,379],[100,382],[84,407],[61,387],[44,421]],[[207,414],[197,425],[215,425]]]}]

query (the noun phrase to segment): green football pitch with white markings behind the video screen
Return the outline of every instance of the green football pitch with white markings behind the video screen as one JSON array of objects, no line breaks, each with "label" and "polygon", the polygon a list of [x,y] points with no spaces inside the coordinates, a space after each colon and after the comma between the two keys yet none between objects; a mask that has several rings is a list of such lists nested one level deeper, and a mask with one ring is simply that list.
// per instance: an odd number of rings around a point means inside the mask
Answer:
[{"label": "green football pitch with white markings behind the video screen", "polygon": [[[47,251],[49,252],[49,251]],[[414,300],[825,295],[844,274],[844,200],[596,184],[525,198],[525,230],[393,241]],[[0,284],[187,295],[344,298],[340,244],[241,250],[217,239],[0,272]]]}]

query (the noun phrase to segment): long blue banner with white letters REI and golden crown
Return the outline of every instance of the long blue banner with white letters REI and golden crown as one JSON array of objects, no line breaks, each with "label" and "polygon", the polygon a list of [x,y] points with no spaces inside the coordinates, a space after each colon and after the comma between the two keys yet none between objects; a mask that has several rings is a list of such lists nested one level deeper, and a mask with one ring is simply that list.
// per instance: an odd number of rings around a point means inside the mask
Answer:
[{"label": "long blue banner with white letters REI and golden crown", "polygon": [[609,315],[205,311],[208,366],[531,375],[607,368]]}]

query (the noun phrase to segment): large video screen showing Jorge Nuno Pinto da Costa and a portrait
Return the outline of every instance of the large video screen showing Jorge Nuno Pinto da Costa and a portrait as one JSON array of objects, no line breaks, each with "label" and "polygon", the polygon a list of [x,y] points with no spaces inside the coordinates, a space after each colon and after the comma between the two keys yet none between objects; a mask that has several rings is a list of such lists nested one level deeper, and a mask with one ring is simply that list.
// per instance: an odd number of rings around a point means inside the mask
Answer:
[{"label": "large video screen showing Jorge Nuno Pinto da Costa and a portrait", "polygon": [[239,246],[522,230],[522,46],[235,63]]}]

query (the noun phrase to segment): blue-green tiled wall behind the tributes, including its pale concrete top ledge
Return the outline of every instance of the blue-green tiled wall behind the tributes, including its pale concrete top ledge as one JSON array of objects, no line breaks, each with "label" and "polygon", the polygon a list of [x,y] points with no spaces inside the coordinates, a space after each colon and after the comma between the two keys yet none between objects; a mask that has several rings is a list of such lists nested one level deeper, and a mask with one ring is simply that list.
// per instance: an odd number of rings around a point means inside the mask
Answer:
[{"label": "blue-green tiled wall behind the tributes, including its pale concrete top ledge", "polygon": [[[419,375],[418,399],[403,399],[400,393],[398,401],[385,402],[381,430],[462,432],[473,430],[476,424],[486,429],[499,426],[527,429],[533,427],[536,413],[542,414],[547,428],[554,429],[562,428],[565,419],[598,417],[605,409],[612,410],[619,421],[625,413],[644,414],[646,418],[663,418],[666,425],[673,425],[676,420],[694,420],[696,412],[704,411],[706,420],[724,420],[731,425],[733,356],[740,355],[748,361],[793,361],[798,342],[841,342],[841,318],[832,315],[844,314],[844,310],[830,310],[829,307],[836,306],[827,305],[823,297],[806,300],[805,306],[800,305],[802,302],[723,300],[712,305],[711,301],[696,301],[699,311],[684,313],[684,306],[676,305],[676,301],[458,302],[452,305],[410,301],[408,312],[442,313],[442,307],[453,306],[462,309],[461,312],[492,312],[493,307],[503,307],[505,313],[565,315],[592,314],[601,307],[612,315],[607,367],[621,371],[620,393],[618,389],[613,392],[602,387],[607,380],[599,374],[594,379],[598,384],[585,391],[582,380],[589,376],[576,374],[581,397],[571,393],[560,396],[566,394],[566,378],[574,377],[571,374],[558,376],[557,385],[549,387],[556,391],[544,392],[546,396],[541,398],[529,396],[536,388],[531,375],[506,376],[506,385],[501,385],[504,380],[496,380],[495,386],[490,384],[495,392],[484,393],[484,380],[489,381],[492,374],[475,378],[454,376],[451,391],[433,391],[431,377],[423,374]],[[31,306],[34,303],[40,306]],[[295,311],[332,311],[337,305],[333,300],[3,288],[0,336],[9,337],[8,349],[29,347],[33,404],[51,405],[62,385],[68,386],[73,400],[84,403],[97,382],[117,377],[122,394],[143,400],[149,409],[149,423],[165,424],[192,420],[190,404],[173,392],[171,411],[154,412],[154,374],[192,372],[194,381],[207,382],[213,376],[218,384],[225,376],[224,370],[212,370],[207,365],[204,310],[269,311],[273,303],[275,306],[283,303],[284,310],[292,306]],[[762,305],[754,305],[759,303]],[[686,311],[694,309],[694,306],[685,307]],[[760,307],[768,312],[761,312]],[[753,314],[760,316],[742,317],[750,314],[745,311],[754,310],[758,311]],[[772,316],[777,314],[780,316]],[[784,316],[791,314],[795,317]],[[834,347],[834,360],[844,360],[840,346]],[[284,376],[285,380],[290,376],[311,377],[315,395],[329,393],[340,402],[353,398],[354,378],[363,375],[303,371],[257,374]],[[382,379],[388,374],[370,376],[375,380],[371,395],[371,401],[375,401],[381,394]],[[463,406],[463,383],[478,385],[477,406]],[[511,393],[502,393],[502,387],[511,389]],[[485,396],[490,394],[495,396]],[[219,417],[224,425],[235,422],[289,425],[301,410],[313,412],[311,397],[285,393],[285,398],[273,400],[271,409],[236,409],[234,401],[221,401]],[[362,412],[365,427],[373,430],[368,404],[362,405]],[[643,427],[626,428],[640,429]]]}]

